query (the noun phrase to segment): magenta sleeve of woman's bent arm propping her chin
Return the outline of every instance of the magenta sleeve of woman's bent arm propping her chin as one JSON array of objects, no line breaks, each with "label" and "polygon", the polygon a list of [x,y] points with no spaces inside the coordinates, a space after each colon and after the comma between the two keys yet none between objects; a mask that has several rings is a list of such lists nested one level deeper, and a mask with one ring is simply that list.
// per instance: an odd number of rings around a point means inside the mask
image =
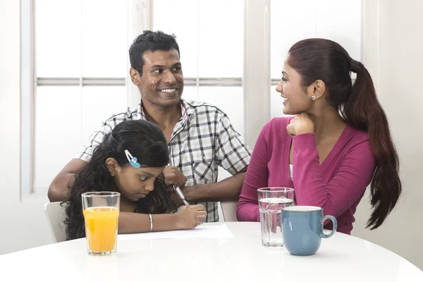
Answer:
[{"label": "magenta sleeve of woman's bent arm propping her chin", "polygon": [[375,161],[369,142],[357,142],[341,161],[335,175],[324,185],[316,135],[293,137],[293,181],[298,205],[321,207],[324,214],[340,216],[361,197],[369,185]]}]

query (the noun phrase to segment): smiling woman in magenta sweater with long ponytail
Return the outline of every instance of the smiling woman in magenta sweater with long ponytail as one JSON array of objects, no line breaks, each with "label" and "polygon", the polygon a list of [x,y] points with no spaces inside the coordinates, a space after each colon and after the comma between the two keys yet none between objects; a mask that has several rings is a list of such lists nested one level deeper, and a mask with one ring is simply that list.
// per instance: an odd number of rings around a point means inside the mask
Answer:
[{"label": "smiling woman in magenta sweater with long ponytail", "polygon": [[[350,72],[357,73],[352,84]],[[259,221],[257,188],[295,189],[298,205],[321,207],[350,234],[355,209],[370,183],[379,227],[402,190],[398,154],[386,114],[363,64],[328,39],[293,45],[276,90],[284,114],[266,123],[257,139],[238,202],[240,221]],[[331,223],[325,225],[331,229]]]}]

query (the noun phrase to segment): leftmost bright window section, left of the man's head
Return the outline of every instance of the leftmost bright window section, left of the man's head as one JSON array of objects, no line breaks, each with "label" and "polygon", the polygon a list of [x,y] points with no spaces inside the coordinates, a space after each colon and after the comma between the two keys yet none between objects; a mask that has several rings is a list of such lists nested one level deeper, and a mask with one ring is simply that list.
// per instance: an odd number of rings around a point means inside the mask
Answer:
[{"label": "leftmost bright window section, left of the man's head", "polygon": [[35,87],[32,122],[23,126],[32,126],[33,166],[26,176],[30,192],[45,192],[101,121],[128,106],[128,7],[121,0],[35,0],[32,9]]}]

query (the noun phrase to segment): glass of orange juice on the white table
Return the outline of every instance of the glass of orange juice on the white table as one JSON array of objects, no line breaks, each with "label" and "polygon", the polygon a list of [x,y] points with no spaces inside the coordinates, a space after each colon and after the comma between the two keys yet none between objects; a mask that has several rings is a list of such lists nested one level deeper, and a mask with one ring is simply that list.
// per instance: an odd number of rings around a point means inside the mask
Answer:
[{"label": "glass of orange juice on the white table", "polygon": [[120,204],[118,192],[82,194],[88,255],[116,254]]}]

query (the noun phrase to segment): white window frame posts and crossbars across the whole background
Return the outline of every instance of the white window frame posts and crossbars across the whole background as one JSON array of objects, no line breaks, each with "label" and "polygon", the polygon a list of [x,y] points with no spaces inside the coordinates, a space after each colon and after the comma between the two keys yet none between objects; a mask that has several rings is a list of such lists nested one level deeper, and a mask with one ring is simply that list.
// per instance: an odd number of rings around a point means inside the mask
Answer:
[{"label": "white window frame posts and crossbars across the whole background", "polygon": [[[152,1],[127,0],[128,3],[128,47],[143,30],[152,28]],[[56,79],[39,78],[35,73],[35,42],[33,0],[21,0],[21,151],[20,151],[20,196],[45,197],[47,190],[33,190],[35,89],[41,85],[125,85],[127,84],[128,106],[137,104],[140,94],[132,83],[129,73],[126,78],[111,79]],[[362,48],[376,48],[377,17],[379,0],[362,0],[362,25],[368,24],[365,35],[362,32]],[[244,0],[244,72],[243,78],[185,78],[185,85],[243,86],[244,138],[253,148],[262,126],[270,118],[270,88],[277,83],[270,75],[270,0]],[[372,32],[372,30],[376,30]],[[363,52],[362,52],[363,54]],[[368,59],[364,53],[364,59]],[[130,67],[129,59],[127,62]],[[377,84],[377,80],[376,80]],[[253,117],[253,118],[252,118]]]}]

